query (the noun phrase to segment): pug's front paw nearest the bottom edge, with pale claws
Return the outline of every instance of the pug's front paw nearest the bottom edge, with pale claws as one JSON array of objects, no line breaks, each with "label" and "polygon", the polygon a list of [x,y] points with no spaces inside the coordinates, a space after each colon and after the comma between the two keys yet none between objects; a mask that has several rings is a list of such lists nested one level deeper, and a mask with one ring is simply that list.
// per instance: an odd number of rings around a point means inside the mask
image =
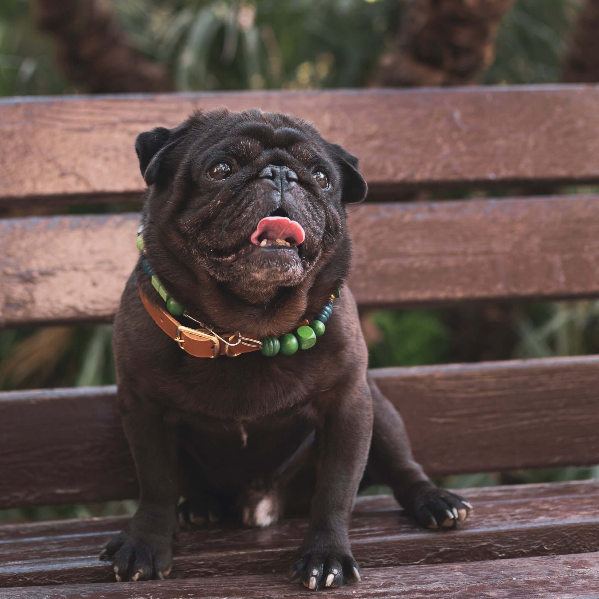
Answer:
[{"label": "pug's front paw nearest the bottom edge, with pale claws", "polygon": [[293,564],[290,578],[316,591],[360,582],[360,567],[348,549],[308,551]]}]

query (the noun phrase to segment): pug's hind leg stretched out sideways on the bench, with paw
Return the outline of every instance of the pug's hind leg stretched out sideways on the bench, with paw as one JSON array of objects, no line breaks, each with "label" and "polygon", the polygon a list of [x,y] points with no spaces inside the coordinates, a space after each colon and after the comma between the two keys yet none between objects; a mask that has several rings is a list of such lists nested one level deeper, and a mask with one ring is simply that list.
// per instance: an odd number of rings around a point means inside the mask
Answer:
[{"label": "pug's hind leg stretched out sideways on the bench, with paw", "polygon": [[462,524],[472,506],[463,497],[437,488],[414,459],[404,422],[393,404],[368,377],[374,424],[366,473],[389,485],[406,512],[424,528]]}]

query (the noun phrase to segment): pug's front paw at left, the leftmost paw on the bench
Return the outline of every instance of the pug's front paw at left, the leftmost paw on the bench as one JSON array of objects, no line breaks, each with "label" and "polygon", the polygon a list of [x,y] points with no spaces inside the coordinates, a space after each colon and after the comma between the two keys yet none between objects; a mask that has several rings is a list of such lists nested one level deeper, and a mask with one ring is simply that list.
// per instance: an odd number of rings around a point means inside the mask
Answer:
[{"label": "pug's front paw at left, the leftmost paw on the bench", "polygon": [[104,547],[100,559],[112,561],[117,582],[163,579],[173,565],[172,544],[172,539],[157,534],[123,531]]}]

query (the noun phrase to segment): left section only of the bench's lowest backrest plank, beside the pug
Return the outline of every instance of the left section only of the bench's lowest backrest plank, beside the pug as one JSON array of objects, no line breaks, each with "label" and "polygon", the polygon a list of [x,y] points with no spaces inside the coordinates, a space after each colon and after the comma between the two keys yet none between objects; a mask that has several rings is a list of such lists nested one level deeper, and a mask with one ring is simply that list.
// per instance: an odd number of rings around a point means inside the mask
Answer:
[{"label": "left section only of the bench's lowest backrest plank, beside the pug", "polygon": [[136,497],[115,392],[0,394],[0,507]]}]

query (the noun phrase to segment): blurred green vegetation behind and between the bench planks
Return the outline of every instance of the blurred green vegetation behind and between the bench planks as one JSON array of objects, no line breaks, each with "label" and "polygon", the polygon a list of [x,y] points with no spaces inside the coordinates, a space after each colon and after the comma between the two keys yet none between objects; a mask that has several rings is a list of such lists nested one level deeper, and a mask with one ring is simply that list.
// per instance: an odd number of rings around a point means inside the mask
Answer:
[{"label": "blurred green vegetation behind and between the bench planks", "polygon": [[[468,4],[446,0],[446,5],[452,2]],[[431,58],[435,53],[431,47],[439,47],[429,39],[435,35],[434,27],[425,32],[426,43],[422,32],[410,29],[409,11],[416,4],[425,5],[424,0],[104,0],[95,4],[100,8],[85,15],[88,35],[73,32],[69,21],[79,8],[69,13],[68,7],[76,7],[77,0],[4,0],[0,4],[0,95],[580,80],[582,75],[573,74],[571,67],[580,67],[580,60],[572,56],[573,40],[577,28],[588,20],[580,17],[581,11],[599,3],[488,0],[497,8],[491,34],[464,44],[470,44],[467,54],[474,59],[449,63],[443,53]],[[94,5],[94,1],[82,0],[80,5]],[[462,29],[469,23],[480,25],[477,16],[459,14],[456,19]],[[437,23],[438,31],[445,32],[444,25]],[[85,62],[94,34],[98,44],[109,38],[115,47],[121,44],[119,56],[124,63],[142,65],[143,77],[129,83],[123,83],[126,77],[115,77],[112,87],[104,89],[105,65]],[[414,69],[417,60],[426,62],[426,68]],[[585,77],[596,80],[588,72]],[[416,199],[427,197],[431,196]],[[19,215],[15,209],[5,216]],[[373,367],[599,353],[598,301],[377,311],[363,314],[362,322]],[[0,331],[0,390],[114,382],[109,325]],[[450,477],[440,483],[475,486],[598,475],[597,467],[562,468]],[[127,513],[134,506],[134,502],[111,502],[7,510],[0,512],[0,522]]]}]

